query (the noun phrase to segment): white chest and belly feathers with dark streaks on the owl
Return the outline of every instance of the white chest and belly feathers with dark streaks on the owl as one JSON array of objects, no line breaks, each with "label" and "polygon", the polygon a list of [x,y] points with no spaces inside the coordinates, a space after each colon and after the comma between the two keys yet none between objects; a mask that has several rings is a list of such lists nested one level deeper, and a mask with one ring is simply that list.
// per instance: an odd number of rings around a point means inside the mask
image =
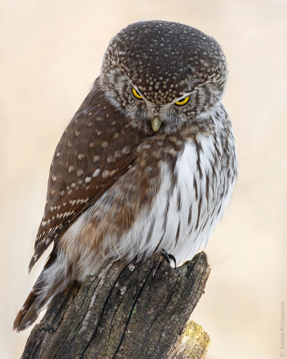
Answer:
[{"label": "white chest and belly feathers with dark streaks on the owl", "polygon": [[[228,168],[214,163],[215,147],[208,136],[201,148],[189,143],[175,166],[176,181],[163,164],[162,184],[151,209],[145,210],[116,248],[118,254],[139,259],[165,249],[180,265],[204,248],[228,206],[234,179]],[[217,149],[218,151],[218,149]],[[127,257],[127,255],[125,255]]]}]

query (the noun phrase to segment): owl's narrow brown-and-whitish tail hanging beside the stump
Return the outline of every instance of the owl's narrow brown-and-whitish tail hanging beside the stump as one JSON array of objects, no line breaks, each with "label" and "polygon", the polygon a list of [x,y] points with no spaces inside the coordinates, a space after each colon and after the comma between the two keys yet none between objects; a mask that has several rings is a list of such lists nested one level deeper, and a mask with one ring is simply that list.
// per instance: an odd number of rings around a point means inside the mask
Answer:
[{"label": "owl's narrow brown-and-whitish tail hanging beside the stump", "polygon": [[56,294],[65,289],[68,283],[66,262],[52,251],[42,273],[15,318],[13,330],[19,332],[30,327],[39,313],[48,306]]}]

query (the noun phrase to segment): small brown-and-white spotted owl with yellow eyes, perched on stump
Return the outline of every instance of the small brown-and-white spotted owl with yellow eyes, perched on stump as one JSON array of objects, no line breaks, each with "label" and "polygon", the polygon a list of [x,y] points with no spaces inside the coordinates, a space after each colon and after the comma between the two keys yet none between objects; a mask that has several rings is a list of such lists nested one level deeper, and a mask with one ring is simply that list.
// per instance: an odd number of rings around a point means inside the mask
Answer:
[{"label": "small brown-and-white spotted owl with yellow eyes, perched on stump", "polygon": [[215,39],[187,25],[138,22],[111,40],[56,147],[29,271],[54,246],[14,330],[107,261],[164,250],[180,265],[206,246],[237,179],[227,78]]}]

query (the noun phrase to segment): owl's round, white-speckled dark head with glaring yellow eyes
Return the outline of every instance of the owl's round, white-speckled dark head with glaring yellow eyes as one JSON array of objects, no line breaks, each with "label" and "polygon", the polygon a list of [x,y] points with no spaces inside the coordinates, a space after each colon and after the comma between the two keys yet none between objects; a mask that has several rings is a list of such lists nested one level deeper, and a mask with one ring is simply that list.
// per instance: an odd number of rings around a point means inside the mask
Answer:
[{"label": "owl's round, white-speckled dark head with glaring yellow eyes", "polygon": [[104,56],[107,101],[147,134],[208,121],[221,102],[226,58],[214,38],[187,25],[144,21],[121,30]]}]

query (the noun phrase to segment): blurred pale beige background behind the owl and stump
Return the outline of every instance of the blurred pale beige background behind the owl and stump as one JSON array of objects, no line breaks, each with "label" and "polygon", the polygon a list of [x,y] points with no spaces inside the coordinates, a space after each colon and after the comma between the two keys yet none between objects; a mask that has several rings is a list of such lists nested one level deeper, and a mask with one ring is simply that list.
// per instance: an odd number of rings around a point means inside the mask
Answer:
[{"label": "blurred pale beige background behind the owl and stump", "polygon": [[[212,268],[193,319],[207,359],[273,359],[287,298],[287,3],[284,0],[1,0],[0,357],[18,358],[30,330],[12,331],[45,258],[28,275],[58,139],[99,73],[110,38],[142,19],[214,36],[230,66],[224,96],[239,181],[207,247]],[[285,350],[287,355],[287,349]]]}]

